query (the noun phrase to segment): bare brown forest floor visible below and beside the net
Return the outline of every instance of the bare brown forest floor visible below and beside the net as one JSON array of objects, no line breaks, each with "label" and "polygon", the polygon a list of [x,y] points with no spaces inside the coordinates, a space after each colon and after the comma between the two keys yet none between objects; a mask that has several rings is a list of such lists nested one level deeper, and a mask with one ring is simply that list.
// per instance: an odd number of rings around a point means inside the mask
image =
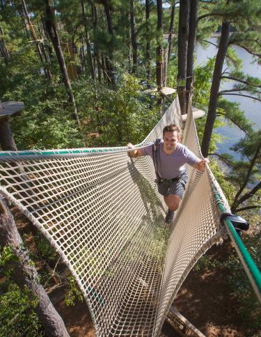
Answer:
[{"label": "bare brown forest floor visible below and beside the net", "polygon": [[[13,213],[19,233],[22,236],[26,233],[27,246],[30,251],[34,250],[35,246],[31,240],[35,235],[33,233],[35,229],[19,211],[15,210]],[[212,246],[207,255],[222,262],[230,249],[232,246],[226,240],[221,246]],[[35,265],[38,269],[42,268],[39,261],[35,262]],[[63,318],[70,336],[94,337],[93,322],[85,301],[75,301],[74,306],[66,306],[64,301],[66,288],[55,286],[53,288],[54,291],[49,293],[49,297]],[[242,319],[238,315],[239,305],[231,293],[223,269],[213,267],[197,271],[192,269],[173,302],[177,311],[207,337],[260,336],[253,334],[251,327],[242,324]],[[178,336],[168,324],[164,324],[162,331],[162,337]]]}]

